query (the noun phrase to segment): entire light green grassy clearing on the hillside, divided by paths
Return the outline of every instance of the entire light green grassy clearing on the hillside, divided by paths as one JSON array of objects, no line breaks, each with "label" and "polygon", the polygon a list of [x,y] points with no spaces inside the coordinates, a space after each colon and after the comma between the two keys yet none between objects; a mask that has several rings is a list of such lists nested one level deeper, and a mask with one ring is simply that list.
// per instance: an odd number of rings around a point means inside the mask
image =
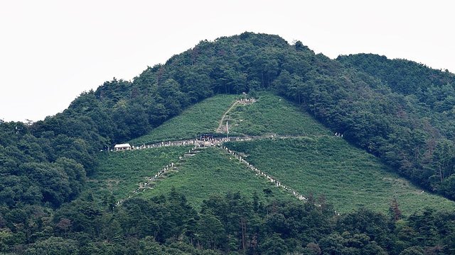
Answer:
[{"label": "entire light green grassy clearing on the hillside, divided by paths", "polygon": [[[156,128],[149,135],[133,140],[134,144],[195,137],[214,132],[223,114],[238,96],[215,96],[188,108],[176,118]],[[397,198],[405,215],[425,207],[454,210],[455,204],[439,196],[422,193],[377,158],[352,147],[317,123],[294,104],[272,94],[259,94],[256,103],[237,104],[229,111],[230,132],[244,135],[300,135],[301,138],[230,142],[228,147],[245,154],[247,161],[299,193],[326,196],[336,210],[349,212],[365,206],[387,212]],[[135,152],[102,154],[92,186],[124,198],[137,188],[139,181],[185,152],[185,148],[166,147]],[[178,171],[160,180],[153,190],[140,196],[149,198],[175,187],[195,206],[211,195],[240,191],[245,196],[257,192],[262,199],[295,199],[274,188],[267,181],[247,171],[219,149],[203,149],[188,157]],[[271,194],[264,193],[270,188]]]}]

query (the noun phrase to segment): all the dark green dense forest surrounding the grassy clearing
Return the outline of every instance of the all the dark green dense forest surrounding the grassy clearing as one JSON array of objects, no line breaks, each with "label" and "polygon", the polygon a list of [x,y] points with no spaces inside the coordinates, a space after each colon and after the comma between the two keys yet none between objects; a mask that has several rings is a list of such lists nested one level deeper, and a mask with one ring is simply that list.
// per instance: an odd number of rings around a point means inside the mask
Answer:
[{"label": "all the dark green dense forest surrounding the grassy clearing", "polygon": [[[84,186],[100,149],[144,135],[214,94],[267,90],[454,200],[454,80],[449,72],[378,55],[330,60],[276,35],[201,41],[132,82],[113,79],[82,93],[63,113],[36,123],[0,121],[0,252],[453,254],[453,213],[428,210],[403,221],[392,206],[394,217],[363,209],[337,217],[311,205],[259,208],[234,195],[210,198],[197,212],[175,193],[112,210],[112,199],[93,200]],[[217,203],[243,203],[245,212],[223,216]],[[218,230],[198,232],[210,229],[200,225]]]}]

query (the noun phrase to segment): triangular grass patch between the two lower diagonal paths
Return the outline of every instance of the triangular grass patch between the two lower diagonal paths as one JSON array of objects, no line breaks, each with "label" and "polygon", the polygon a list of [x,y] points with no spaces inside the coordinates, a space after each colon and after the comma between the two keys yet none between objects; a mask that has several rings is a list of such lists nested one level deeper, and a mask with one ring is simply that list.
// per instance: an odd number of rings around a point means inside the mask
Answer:
[{"label": "triangular grass patch between the two lower diagonal paths", "polygon": [[[178,171],[168,174],[154,189],[144,191],[141,196],[159,196],[170,192],[173,187],[183,192],[188,202],[196,208],[210,196],[223,196],[237,191],[247,198],[252,198],[256,192],[262,200],[297,200],[267,179],[256,176],[255,172],[222,149],[214,147],[202,149],[198,154],[188,157]],[[264,189],[272,193],[265,194]]]}]

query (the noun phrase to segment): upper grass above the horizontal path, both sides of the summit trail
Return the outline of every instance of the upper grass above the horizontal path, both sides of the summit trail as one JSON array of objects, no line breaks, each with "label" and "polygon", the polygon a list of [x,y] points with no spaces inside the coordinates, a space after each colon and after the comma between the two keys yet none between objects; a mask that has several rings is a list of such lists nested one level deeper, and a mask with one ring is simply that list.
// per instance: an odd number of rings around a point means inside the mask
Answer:
[{"label": "upper grass above the horizontal path, both sides of the summit trail", "polygon": [[[197,137],[203,132],[215,132],[223,114],[239,95],[218,95],[188,108],[181,115],[137,139],[133,145]],[[237,104],[225,117],[231,135],[328,135],[331,132],[303,113],[293,103],[280,96],[262,93],[256,103]],[[223,122],[225,125],[225,122]]]}]

